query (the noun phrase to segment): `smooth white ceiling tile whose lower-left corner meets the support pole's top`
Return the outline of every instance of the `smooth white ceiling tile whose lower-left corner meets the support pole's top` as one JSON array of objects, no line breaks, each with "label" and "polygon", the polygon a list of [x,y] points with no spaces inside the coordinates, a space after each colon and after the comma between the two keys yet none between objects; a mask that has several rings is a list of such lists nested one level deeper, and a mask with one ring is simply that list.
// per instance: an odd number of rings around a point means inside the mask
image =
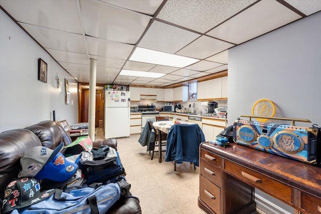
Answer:
[{"label": "smooth white ceiling tile whose lower-left corner meets the support pole's top", "polygon": [[86,36],[90,55],[126,60],[133,45],[112,42]]}]

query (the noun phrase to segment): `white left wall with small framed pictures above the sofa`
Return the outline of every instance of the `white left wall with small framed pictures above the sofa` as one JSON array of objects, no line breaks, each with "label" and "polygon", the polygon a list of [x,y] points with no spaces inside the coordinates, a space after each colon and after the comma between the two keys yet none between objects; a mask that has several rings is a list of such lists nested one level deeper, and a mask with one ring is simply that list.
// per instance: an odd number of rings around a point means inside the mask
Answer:
[{"label": "white left wall with small framed pictures above the sofa", "polygon": [[[38,80],[38,58],[48,64],[47,83]],[[73,105],[65,104],[65,78]],[[53,110],[57,121],[66,119],[70,125],[78,122],[77,82],[2,10],[0,89],[0,132],[53,120]]]}]

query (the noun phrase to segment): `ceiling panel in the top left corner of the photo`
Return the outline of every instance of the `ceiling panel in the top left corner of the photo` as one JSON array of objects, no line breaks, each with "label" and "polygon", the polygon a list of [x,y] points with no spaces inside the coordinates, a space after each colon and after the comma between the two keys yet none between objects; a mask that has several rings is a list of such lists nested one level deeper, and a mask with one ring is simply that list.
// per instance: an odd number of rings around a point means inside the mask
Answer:
[{"label": "ceiling panel in the top left corner of the photo", "polygon": [[1,1],[18,22],[81,34],[75,1]]}]

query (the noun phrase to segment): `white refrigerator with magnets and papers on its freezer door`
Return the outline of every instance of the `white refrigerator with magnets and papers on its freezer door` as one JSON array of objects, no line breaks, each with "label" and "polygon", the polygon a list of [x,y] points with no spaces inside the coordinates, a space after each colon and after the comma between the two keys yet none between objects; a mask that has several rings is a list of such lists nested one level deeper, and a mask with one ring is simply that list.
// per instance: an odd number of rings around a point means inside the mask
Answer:
[{"label": "white refrigerator with magnets and papers on its freezer door", "polygon": [[130,93],[105,91],[105,138],[129,137]]}]

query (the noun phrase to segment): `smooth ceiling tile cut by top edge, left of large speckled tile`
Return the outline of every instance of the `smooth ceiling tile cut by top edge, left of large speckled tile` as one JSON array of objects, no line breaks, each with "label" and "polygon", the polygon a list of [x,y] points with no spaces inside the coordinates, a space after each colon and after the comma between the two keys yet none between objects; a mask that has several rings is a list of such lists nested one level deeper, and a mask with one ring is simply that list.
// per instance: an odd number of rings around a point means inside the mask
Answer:
[{"label": "smooth ceiling tile cut by top edge, left of large speckled tile", "polygon": [[163,0],[100,0],[102,2],[137,11],[142,14],[154,15]]}]

